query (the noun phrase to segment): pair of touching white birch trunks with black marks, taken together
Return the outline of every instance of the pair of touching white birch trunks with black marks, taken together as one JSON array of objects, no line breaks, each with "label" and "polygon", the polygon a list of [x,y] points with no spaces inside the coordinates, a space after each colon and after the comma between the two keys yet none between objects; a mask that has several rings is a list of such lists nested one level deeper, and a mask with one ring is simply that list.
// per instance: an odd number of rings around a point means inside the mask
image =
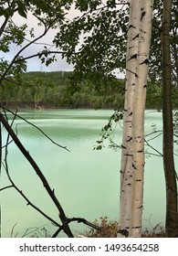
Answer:
[{"label": "pair of touching white birch trunks with black marks, taken together", "polygon": [[120,170],[118,237],[141,237],[144,109],[153,0],[131,0]]}]

